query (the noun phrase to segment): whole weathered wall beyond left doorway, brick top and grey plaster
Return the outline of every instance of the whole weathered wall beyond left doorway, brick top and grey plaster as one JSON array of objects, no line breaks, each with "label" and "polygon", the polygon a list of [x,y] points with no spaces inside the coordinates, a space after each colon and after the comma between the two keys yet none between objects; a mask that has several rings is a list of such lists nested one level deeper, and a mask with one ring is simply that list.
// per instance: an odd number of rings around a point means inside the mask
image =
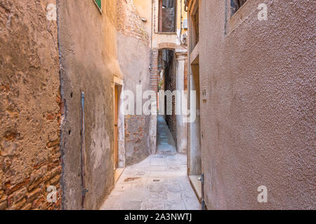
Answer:
[{"label": "whole weathered wall beyond left doorway, brick top and grey plaster", "polygon": [[117,6],[119,66],[124,90],[132,91],[135,96],[135,115],[125,116],[125,164],[129,166],[150,155],[150,116],[136,114],[137,85],[143,92],[150,90],[150,39],[133,1],[118,1]]}]

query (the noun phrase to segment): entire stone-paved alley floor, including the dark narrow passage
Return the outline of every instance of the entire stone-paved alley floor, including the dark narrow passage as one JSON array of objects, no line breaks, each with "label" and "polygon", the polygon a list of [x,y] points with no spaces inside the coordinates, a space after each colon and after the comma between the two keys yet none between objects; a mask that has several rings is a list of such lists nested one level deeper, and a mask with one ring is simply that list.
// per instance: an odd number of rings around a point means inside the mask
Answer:
[{"label": "entire stone-paved alley floor, including the dark narrow passage", "polygon": [[186,174],[186,155],[176,153],[171,133],[161,117],[157,135],[157,154],[126,167],[100,209],[201,209]]}]

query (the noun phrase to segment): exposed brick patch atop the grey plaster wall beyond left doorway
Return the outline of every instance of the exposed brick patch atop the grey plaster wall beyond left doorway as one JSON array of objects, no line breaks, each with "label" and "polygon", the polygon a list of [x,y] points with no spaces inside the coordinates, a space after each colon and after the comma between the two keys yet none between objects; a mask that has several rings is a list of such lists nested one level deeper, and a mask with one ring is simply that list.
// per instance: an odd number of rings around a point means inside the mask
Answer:
[{"label": "exposed brick patch atop the grey plaster wall beyond left doorway", "polygon": [[117,11],[119,12],[119,15],[117,15],[117,31],[125,36],[137,38],[148,45],[149,36],[133,0],[117,1]]}]

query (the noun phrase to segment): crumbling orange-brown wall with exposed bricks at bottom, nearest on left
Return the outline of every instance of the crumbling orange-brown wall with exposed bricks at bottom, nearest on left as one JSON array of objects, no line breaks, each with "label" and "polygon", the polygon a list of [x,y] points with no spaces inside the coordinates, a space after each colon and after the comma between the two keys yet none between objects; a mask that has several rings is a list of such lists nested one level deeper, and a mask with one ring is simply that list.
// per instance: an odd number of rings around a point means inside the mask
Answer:
[{"label": "crumbling orange-brown wall with exposed bricks at bottom, nearest on left", "polygon": [[[53,1],[0,1],[0,210],[60,209],[60,80]],[[47,186],[58,201],[46,201]]]}]

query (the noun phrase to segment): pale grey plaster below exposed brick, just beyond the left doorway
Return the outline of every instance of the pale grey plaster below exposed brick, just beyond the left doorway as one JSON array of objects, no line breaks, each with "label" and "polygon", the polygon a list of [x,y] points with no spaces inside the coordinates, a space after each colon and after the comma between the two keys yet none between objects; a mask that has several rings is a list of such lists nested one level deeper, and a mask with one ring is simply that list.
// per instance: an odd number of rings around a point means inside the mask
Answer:
[{"label": "pale grey plaster below exposed brick, just beyond the left doorway", "polygon": [[137,85],[143,92],[150,89],[150,48],[136,38],[119,34],[118,52],[120,69],[124,74],[124,90],[130,90],[135,96],[135,114],[125,116],[125,156],[126,166],[129,166],[150,155],[150,116],[136,114]]}]

